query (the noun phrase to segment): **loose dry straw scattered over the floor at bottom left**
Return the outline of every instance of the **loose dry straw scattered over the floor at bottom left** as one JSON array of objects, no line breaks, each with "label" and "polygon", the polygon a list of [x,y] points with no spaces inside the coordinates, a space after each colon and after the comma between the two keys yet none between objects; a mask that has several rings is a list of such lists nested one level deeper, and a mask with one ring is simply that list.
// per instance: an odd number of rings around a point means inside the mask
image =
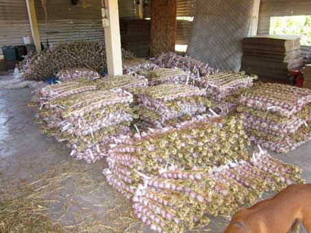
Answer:
[{"label": "loose dry straw scattered over the floor at bottom left", "polygon": [[[141,232],[141,223],[126,199],[106,181],[93,180],[90,175],[89,167],[73,162],[53,167],[27,184],[5,182],[0,177],[0,232]],[[71,180],[76,189],[69,192]],[[101,193],[110,199],[104,203],[94,199],[91,205],[78,201],[92,195],[100,198]],[[62,208],[55,213],[51,211],[54,205]],[[76,206],[82,213],[72,211]]]}]

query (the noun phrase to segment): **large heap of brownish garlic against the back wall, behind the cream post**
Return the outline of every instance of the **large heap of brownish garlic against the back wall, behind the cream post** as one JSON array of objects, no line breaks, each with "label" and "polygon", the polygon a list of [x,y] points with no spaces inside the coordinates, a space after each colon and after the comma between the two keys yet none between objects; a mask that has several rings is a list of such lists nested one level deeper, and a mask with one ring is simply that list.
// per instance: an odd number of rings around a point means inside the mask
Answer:
[{"label": "large heap of brownish garlic against the back wall, behind the cream post", "polygon": [[[134,56],[122,49],[122,58]],[[43,80],[45,77],[54,77],[61,70],[76,67],[87,67],[97,72],[105,71],[106,46],[102,42],[85,40],[62,43],[31,55],[18,67],[23,72],[23,78],[28,80]]]}]

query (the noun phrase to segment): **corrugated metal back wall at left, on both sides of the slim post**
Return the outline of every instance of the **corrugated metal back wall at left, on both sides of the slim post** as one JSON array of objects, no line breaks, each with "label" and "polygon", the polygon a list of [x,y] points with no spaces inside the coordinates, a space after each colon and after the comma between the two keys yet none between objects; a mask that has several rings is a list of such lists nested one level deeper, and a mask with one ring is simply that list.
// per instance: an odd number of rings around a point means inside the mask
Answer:
[{"label": "corrugated metal back wall at left, on both sides of the slim post", "polygon": [[[134,0],[118,0],[120,17],[135,17]],[[73,40],[104,40],[102,1],[87,0],[87,5],[72,5],[70,0],[47,1],[47,17],[41,0],[35,0],[41,42],[46,45]],[[23,36],[32,33],[25,0],[0,0],[0,47],[21,45]],[[2,53],[0,49],[0,54]]]}]

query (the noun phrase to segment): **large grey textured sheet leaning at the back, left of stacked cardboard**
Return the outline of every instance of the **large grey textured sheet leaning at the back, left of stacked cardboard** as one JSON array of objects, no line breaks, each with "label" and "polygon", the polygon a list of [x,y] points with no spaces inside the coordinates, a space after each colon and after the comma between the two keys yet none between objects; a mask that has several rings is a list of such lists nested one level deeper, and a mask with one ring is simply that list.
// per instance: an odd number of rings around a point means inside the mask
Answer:
[{"label": "large grey textured sheet leaning at the back, left of stacked cardboard", "polygon": [[199,0],[187,55],[220,70],[239,71],[242,38],[253,21],[253,0]]}]

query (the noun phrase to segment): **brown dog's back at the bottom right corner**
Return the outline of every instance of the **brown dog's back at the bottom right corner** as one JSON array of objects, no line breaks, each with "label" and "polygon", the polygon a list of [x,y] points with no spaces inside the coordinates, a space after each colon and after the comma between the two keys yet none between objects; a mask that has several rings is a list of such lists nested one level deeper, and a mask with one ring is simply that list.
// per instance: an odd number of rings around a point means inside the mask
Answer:
[{"label": "brown dog's back at the bottom right corner", "polygon": [[311,233],[311,184],[292,184],[271,199],[238,210],[224,233],[299,232],[301,222]]}]

